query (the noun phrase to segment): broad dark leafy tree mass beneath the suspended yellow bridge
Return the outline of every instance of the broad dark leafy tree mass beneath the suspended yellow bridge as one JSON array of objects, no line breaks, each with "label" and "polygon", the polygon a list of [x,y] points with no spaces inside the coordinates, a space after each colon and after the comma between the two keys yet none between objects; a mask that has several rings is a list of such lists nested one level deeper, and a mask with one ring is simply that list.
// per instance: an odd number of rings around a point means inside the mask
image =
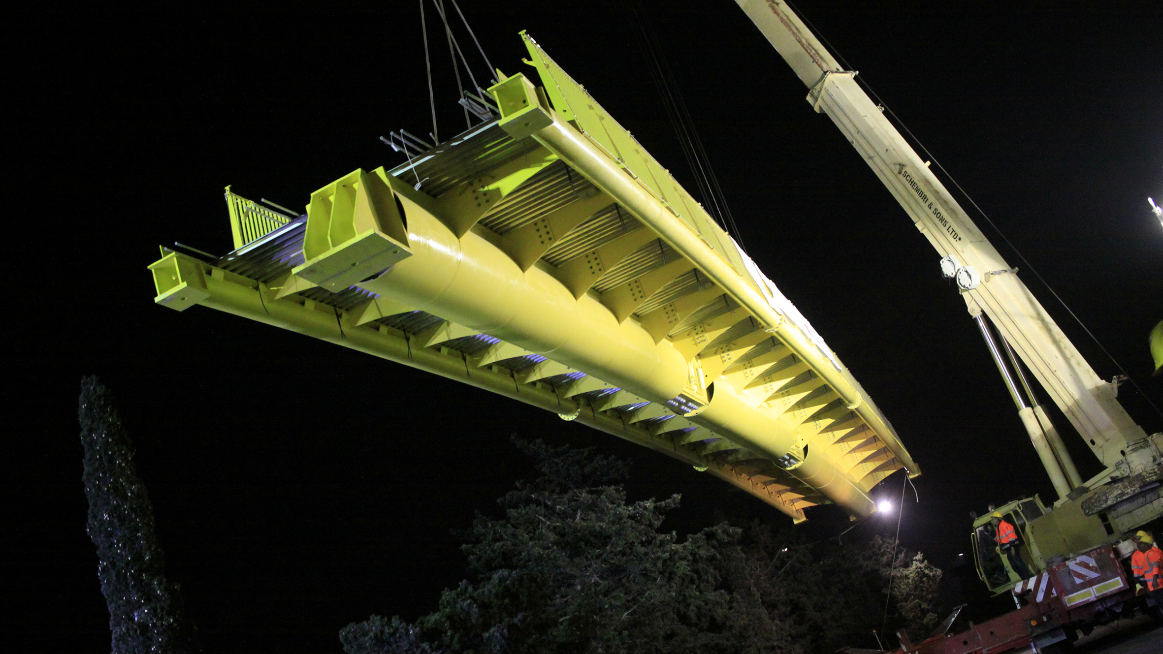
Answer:
[{"label": "broad dark leafy tree mass beneath the suspended yellow bridge", "polygon": [[[470,578],[414,624],[373,616],[348,625],[349,654],[808,654],[864,644],[880,626],[891,544],[815,552],[793,532],[727,524],[679,541],[657,531],[678,496],[627,502],[626,462],[518,446],[541,476],[500,500],[505,518],[477,517],[463,546]],[[912,625],[935,595],[918,599],[919,582],[894,576],[894,597],[915,602],[894,602],[892,624]]]}]

